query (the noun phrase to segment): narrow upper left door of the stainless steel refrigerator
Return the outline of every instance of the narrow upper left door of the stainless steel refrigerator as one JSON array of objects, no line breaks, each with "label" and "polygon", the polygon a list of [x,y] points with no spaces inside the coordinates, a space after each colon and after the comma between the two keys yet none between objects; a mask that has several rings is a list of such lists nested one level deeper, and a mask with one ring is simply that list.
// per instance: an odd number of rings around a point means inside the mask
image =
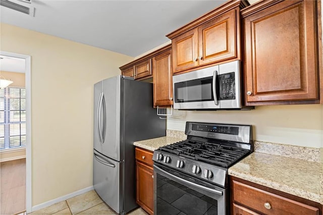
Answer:
[{"label": "narrow upper left door of the stainless steel refrigerator", "polygon": [[99,117],[102,116],[101,96],[102,96],[102,81],[94,84],[94,109],[93,109],[93,113],[94,113],[93,148],[102,153],[102,144],[100,142],[100,130],[99,130],[99,123],[101,124],[103,123],[102,120],[101,121],[99,120]]}]

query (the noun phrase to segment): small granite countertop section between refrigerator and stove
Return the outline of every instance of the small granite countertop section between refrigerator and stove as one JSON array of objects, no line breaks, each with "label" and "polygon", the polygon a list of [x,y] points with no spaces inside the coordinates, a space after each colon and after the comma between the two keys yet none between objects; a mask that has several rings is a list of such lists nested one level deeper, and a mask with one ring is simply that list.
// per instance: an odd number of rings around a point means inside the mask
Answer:
[{"label": "small granite countertop section between refrigerator and stove", "polygon": [[133,144],[135,146],[139,146],[141,148],[154,151],[160,146],[168,145],[171,143],[179,142],[183,140],[182,138],[176,138],[176,137],[157,137],[153,139],[148,140],[142,140],[142,141],[136,141]]}]

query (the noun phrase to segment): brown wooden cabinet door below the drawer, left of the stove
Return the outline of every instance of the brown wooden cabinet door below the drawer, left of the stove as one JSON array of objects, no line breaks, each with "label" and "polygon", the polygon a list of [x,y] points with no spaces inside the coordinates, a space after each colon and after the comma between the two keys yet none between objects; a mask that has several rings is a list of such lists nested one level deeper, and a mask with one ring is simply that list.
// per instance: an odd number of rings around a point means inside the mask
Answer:
[{"label": "brown wooden cabinet door below the drawer, left of the stove", "polygon": [[136,201],[153,214],[153,168],[136,161]]}]

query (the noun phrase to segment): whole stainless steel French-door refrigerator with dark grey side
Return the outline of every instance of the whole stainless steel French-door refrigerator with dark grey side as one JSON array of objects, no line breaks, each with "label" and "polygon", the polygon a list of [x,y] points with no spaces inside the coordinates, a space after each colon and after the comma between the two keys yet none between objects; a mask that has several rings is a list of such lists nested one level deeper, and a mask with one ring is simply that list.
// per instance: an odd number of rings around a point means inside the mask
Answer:
[{"label": "whole stainless steel French-door refrigerator with dark grey side", "polygon": [[152,96],[151,83],[124,76],[94,85],[93,187],[121,214],[138,206],[134,141],[166,136]]}]

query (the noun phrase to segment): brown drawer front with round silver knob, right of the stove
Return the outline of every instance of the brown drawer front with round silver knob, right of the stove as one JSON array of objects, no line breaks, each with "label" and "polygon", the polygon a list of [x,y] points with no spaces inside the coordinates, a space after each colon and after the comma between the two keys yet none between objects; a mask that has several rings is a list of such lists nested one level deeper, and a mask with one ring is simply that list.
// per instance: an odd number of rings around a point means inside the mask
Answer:
[{"label": "brown drawer front with round silver knob, right of the stove", "polygon": [[[243,183],[233,181],[233,200],[264,214],[315,214],[319,209]],[[265,207],[270,208],[267,209]]]}]

